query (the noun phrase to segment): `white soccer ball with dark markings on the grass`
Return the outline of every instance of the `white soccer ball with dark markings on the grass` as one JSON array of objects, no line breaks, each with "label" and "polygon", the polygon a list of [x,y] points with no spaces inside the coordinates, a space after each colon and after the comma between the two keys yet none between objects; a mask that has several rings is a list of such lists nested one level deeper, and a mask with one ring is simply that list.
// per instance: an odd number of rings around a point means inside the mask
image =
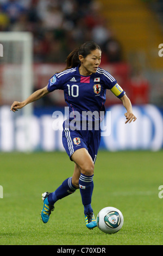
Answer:
[{"label": "white soccer ball with dark markings on the grass", "polygon": [[122,228],[122,212],[114,207],[105,207],[97,215],[97,227],[104,233],[116,233]]}]

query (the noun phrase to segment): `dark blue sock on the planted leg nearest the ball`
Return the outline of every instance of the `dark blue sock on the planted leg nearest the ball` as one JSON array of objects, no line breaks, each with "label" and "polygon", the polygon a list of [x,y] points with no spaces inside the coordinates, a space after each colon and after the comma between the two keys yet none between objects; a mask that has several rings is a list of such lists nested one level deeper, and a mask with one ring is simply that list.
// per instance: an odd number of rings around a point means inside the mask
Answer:
[{"label": "dark blue sock on the planted leg nearest the ball", "polygon": [[82,203],[84,205],[84,214],[87,212],[93,212],[91,207],[93,175],[87,176],[81,173],[79,178],[79,188],[82,196]]}]

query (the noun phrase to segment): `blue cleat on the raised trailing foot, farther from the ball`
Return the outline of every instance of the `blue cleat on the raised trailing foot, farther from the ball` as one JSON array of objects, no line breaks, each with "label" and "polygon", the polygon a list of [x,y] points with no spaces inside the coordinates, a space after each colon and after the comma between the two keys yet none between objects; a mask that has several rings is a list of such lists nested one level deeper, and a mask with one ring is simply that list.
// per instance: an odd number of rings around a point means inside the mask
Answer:
[{"label": "blue cleat on the raised trailing foot, farther from the ball", "polygon": [[51,212],[54,211],[54,205],[49,204],[48,202],[48,195],[49,192],[45,192],[42,194],[42,200],[43,200],[43,209],[41,211],[41,220],[43,223],[47,223],[49,220],[49,216],[51,215]]}]

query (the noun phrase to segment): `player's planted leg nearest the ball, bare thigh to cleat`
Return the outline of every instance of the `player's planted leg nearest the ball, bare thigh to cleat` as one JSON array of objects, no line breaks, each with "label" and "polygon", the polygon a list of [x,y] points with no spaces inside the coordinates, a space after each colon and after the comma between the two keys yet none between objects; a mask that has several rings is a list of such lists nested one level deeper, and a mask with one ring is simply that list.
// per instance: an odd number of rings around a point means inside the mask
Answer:
[{"label": "player's planted leg nearest the ball, bare thigh to cleat", "polygon": [[71,156],[71,159],[77,164],[73,181],[75,180],[77,182],[79,179],[79,189],[82,197],[82,203],[84,205],[86,227],[92,229],[97,226],[91,206],[94,163],[90,154],[85,148],[76,150]]}]

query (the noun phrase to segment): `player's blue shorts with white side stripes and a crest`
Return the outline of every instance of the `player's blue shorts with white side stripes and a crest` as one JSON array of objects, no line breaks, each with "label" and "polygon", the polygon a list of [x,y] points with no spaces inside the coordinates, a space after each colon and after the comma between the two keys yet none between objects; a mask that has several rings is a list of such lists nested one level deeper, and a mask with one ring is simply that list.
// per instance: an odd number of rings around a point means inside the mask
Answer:
[{"label": "player's blue shorts with white side stripes and a crest", "polygon": [[66,153],[70,157],[72,154],[80,149],[85,148],[90,156],[92,157],[93,162],[95,163],[99,144],[101,141],[101,130],[71,130],[70,128],[65,128],[63,125],[62,131],[62,143],[66,150]]}]

